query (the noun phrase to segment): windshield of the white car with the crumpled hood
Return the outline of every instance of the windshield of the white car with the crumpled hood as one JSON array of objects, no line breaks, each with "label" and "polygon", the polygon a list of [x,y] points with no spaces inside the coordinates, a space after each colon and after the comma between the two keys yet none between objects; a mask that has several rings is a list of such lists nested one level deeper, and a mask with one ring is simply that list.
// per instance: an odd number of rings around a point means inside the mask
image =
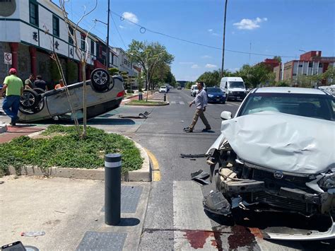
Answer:
[{"label": "windshield of the white car with the crumpled hood", "polygon": [[253,93],[249,95],[238,116],[276,111],[335,121],[334,99],[330,97],[302,93]]}]

